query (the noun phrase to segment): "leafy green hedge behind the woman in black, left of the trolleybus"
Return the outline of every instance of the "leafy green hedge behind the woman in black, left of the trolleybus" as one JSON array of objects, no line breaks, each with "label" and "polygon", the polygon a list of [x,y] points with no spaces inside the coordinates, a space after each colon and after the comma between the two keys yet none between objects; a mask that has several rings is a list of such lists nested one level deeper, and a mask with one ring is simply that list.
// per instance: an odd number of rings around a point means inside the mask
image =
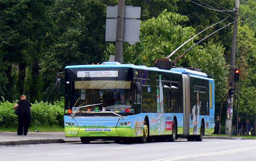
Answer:
[{"label": "leafy green hedge behind the woman in black, left of the trolleybus", "polygon": [[[14,114],[15,102],[0,102],[0,127],[15,127],[18,124],[17,115]],[[63,126],[64,100],[53,103],[37,102],[32,104],[32,126],[37,125],[60,125]]]}]

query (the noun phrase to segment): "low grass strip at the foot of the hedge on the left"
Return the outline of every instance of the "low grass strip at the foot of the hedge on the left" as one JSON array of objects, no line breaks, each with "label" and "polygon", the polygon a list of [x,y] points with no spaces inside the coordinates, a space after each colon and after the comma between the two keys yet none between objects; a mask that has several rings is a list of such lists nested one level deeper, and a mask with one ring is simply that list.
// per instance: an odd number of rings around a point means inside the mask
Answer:
[{"label": "low grass strip at the foot of the hedge on the left", "polygon": [[[31,126],[28,128],[28,132],[64,132],[64,127],[53,125],[53,126]],[[0,127],[0,132],[17,132],[17,127]]]}]

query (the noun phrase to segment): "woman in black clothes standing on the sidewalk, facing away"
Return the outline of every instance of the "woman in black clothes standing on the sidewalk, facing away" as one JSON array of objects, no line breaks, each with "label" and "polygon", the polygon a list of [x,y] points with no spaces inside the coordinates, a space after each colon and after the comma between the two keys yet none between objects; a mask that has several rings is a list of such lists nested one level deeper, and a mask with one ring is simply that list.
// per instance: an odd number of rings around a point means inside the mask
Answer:
[{"label": "woman in black clothes standing on the sidewalk, facing away", "polygon": [[28,127],[30,121],[32,119],[31,116],[31,108],[32,105],[30,101],[26,100],[25,95],[20,96],[20,101],[13,106],[14,110],[19,106],[19,113],[18,113],[18,132],[17,135],[27,135],[28,134]]}]

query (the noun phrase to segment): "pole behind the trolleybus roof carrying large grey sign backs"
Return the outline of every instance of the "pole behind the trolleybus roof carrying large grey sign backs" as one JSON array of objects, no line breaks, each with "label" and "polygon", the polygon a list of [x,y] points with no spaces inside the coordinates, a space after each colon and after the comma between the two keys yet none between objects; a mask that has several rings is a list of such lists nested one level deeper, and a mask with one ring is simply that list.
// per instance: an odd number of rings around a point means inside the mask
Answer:
[{"label": "pole behind the trolleybus roof carrying large grey sign backs", "polygon": [[124,0],[118,0],[117,34],[115,40],[115,62],[122,64],[122,49],[124,42]]}]

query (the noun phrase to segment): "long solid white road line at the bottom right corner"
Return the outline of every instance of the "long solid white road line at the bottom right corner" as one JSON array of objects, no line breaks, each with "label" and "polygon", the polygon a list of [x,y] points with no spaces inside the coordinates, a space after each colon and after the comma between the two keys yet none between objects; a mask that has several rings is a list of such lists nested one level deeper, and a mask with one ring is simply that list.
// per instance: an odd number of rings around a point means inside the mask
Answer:
[{"label": "long solid white road line at the bottom right corner", "polygon": [[226,151],[221,151],[221,152],[212,152],[212,153],[204,153],[204,154],[194,154],[194,155],[187,155],[187,156],[162,158],[162,159],[157,159],[154,161],[174,161],[174,160],[186,159],[186,158],[191,158],[191,157],[213,156],[213,155],[235,153],[235,152],[241,152],[241,151],[253,150],[253,149],[256,149],[256,146],[247,147],[247,148],[239,148],[239,149],[234,149],[234,150],[226,150]]}]

